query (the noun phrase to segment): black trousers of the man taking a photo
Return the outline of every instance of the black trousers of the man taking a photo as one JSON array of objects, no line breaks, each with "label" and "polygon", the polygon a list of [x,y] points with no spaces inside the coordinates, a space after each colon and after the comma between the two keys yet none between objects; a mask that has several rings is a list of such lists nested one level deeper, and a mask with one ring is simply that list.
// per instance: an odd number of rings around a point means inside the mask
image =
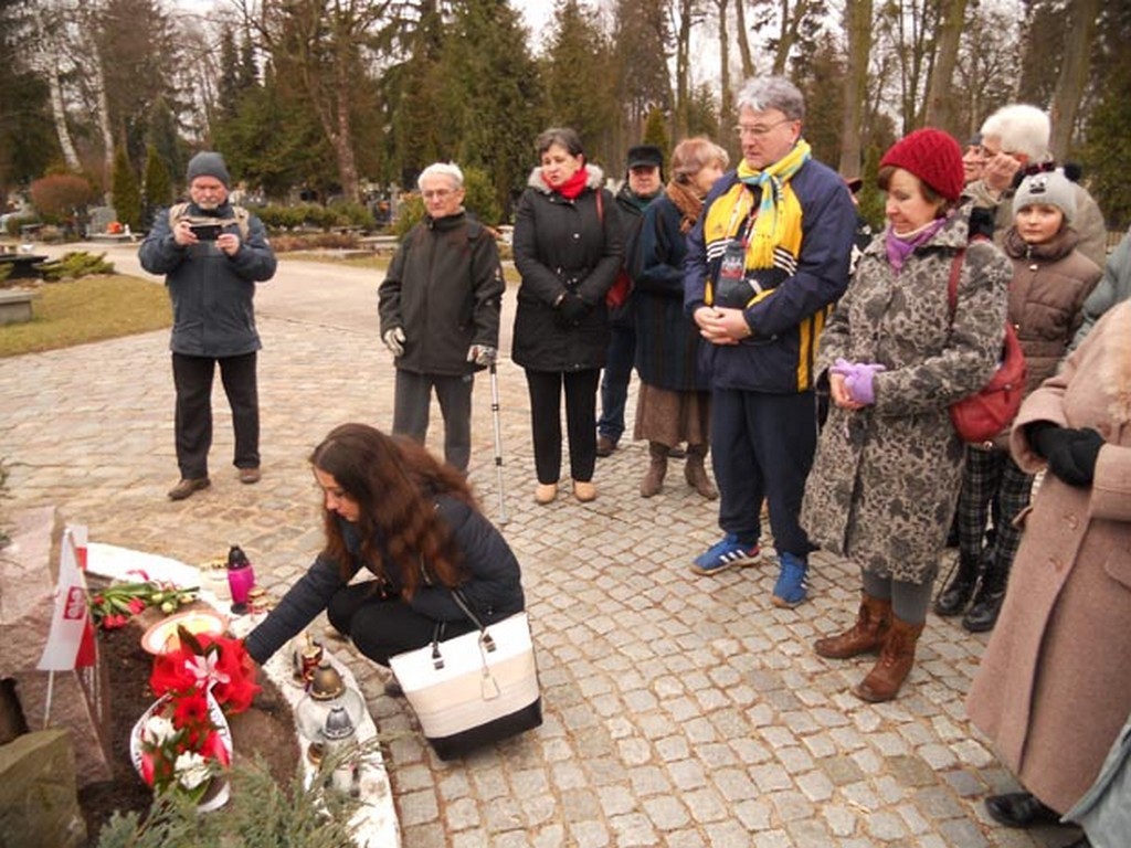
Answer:
[{"label": "black trousers of the man taking a photo", "polygon": [[235,430],[236,468],[259,467],[259,387],[256,379],[256,352],[241,356],[185,356],[173,354],[173,383],[176,387],[176,464],[181,476],[192,479],[208,476],[208,449],[211,448],[211,384],[219,364],[224,393],[232,407]]}]

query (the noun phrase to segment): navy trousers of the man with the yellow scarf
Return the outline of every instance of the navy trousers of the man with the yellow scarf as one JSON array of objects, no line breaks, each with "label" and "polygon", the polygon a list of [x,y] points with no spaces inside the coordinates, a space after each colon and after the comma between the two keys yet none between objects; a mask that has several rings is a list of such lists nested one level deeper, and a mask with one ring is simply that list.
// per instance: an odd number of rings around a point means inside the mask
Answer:
[{"label": "navy trousers of the man with the yellow scarf", "polygon": [[775,548],[805,559],[812,545],[797,519],[817,450],[813,392],[715,389],[710,444],[720,494],[718,523],[724,533],[757,542],[765,497]]}]

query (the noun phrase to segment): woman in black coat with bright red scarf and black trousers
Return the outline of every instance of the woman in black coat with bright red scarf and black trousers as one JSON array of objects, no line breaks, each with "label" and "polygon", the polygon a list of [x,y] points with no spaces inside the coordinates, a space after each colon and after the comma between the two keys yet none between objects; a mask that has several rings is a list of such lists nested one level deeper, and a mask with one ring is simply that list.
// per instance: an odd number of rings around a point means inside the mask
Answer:
[{"label": "woman in black coat with bright red scarf and black trousers", "polygon": [[523,282],[511,356],[530,392],[535,501],[558,496],[561,396],[566,392],[573,495],[597,496],[597,382],[608,348],[605,294],[623,261],[621,223],[604,173],[586,162],[571,129],[538,136],[534,168],[515,218],[515,266]]}]

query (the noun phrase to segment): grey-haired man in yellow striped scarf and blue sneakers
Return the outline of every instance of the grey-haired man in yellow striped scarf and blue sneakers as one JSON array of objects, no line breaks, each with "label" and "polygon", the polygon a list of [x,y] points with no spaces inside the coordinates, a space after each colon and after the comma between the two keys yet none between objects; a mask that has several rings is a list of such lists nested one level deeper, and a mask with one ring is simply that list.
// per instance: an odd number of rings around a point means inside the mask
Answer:
[{"label": "grey-haired man in yellow striped scarf and blue sneakers", "polygon": [[692,571],[758,561],[761,504],[780,572],[772,602],[806,596],[812,545],[797,521],[817,445],[815,346],[848,286],[856,210],[801,137],[805,102],[782,77],[739,93],[742,162],[715,184],[688,235],[684,308],[705,345],[711,452],[725,536]]}]

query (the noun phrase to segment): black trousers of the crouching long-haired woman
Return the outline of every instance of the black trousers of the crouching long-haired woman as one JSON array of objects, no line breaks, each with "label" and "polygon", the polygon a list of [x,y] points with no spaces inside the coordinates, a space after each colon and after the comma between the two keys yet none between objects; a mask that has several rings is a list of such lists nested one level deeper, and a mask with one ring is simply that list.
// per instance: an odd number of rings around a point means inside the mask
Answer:
[{"label": "black trousers of the crouching long-haired woman", "polygon": [[[339,589],[326,616],[339,632],[348,635],[354,646],[378,665],[388,666],[389,657],[423,648],[432,641],[437,621],[421,615],[400,598],[382,598],[377,581],[352,583]],[[443,639],[475,630],[467,620],[446,622]]]}]

